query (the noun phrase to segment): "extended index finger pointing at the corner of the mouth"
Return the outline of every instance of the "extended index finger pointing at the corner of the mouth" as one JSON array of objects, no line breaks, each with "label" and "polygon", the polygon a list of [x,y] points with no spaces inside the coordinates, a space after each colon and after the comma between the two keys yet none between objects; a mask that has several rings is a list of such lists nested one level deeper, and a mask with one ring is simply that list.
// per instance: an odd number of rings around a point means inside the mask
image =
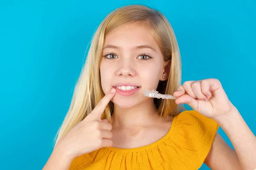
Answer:
[{"label": "extended index finger pointing at the corner of the mouth", "polygon": [[108,103],[111,101],[113,96],[116,94],[116,89],[111,88],[108,93],[99,101],[98,105],[93,109],[92,113],[95,115],[96,119],[100,119],[102,112],[107,107]]}]

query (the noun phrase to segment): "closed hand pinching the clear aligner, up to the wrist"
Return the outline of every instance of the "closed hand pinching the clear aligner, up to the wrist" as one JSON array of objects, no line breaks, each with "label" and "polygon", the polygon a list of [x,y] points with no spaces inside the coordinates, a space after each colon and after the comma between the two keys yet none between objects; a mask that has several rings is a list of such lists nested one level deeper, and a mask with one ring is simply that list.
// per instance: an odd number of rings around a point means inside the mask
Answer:
[{"label": "closed hand pinching the clear aligner, up to the wrist", "polygon": [[186,81],[173,96],[176,97],[176,104],[187,104],[211,119],[224,116],[235,108],[218,79]]}]

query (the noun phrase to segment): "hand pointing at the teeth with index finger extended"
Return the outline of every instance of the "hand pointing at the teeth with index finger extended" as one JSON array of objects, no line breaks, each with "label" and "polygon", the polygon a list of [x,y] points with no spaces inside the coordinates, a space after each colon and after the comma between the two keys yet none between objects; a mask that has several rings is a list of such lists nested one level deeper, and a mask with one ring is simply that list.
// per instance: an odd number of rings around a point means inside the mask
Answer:
[{"label": "hand pointing at the teeth with index finger extended", "polygon": [[66,154],[74,158],[102,147],[113,146],[112,126],[106,119],[101,120],[101,115],[115,93],[115,88],[108,91],[93,111],[68,131],[56,147],[67,151]]}]

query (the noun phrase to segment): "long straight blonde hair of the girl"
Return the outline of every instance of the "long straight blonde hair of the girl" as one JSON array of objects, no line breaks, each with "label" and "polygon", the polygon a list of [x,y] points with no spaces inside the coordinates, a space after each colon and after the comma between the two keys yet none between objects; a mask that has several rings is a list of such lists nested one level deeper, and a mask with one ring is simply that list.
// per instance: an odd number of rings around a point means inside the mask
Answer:
[{"label": "long straight blonde hair of the girl", "polygon": [[[180,85],[180,51],[172,26],[166,17],[160,11],[142,5],[117,8],[105,17],[93,36],[86,62],[76,82],[69,111],[55,136],[55,146],[71,128],[93,110],[105,95],[99,72],[104,38],[110,31],[125,23],[141,23],[149,26],[162,51],[164,61],[169,61],[168,79],[159,82],[157,91],[161,94],[173,94]],[[176,116],[181,110],[186,110],[183,105],[177,105],[175,100],[155,98],[154,103],[158,114],[163,117]],[[108,119],[110,122],[112,113],[113,102],[110,102],[102,114],[102,119]]]}]

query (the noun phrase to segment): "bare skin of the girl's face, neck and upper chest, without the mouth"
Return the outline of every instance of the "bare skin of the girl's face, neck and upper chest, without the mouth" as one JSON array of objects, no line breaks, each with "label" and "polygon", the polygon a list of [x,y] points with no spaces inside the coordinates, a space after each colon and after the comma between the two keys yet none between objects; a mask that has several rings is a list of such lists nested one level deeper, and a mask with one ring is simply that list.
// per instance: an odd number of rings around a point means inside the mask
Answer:
[{"label": "bare skin of the girl's face, neck and upper chest, without the mouth", "polygon": [[[151,144],[165,136],[171,126],[171,118],[158,118],[153,98],[143,96],[143,89],[156,89],[159,80],[164,80],[162,77],[166,76],[164,66],[167,63],[163,61],[150,31],[147,26],[129,23],[119,26],[105,37],[104,57],[100,64],[103,91],[106,93],[117,83],[140,86],[140,90],[132,96],[116,93],[112,99],[114,147],[132,148]],[[153,49],[137,48],[141,45]],[[143,53],[146,55],[141,55]],[[149,133],[154,137],[148,136]]]}]

